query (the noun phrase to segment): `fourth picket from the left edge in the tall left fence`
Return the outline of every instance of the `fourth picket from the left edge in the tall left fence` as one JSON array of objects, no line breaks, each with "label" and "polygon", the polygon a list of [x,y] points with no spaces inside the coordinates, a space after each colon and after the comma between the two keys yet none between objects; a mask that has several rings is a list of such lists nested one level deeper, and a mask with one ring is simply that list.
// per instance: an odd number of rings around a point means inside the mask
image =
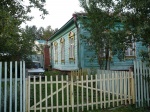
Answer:
[{"label": "fourth picket from the left edge in the tall left fence", "polygon": [[15,61],[15,112],[17,112],[17,61]]}]

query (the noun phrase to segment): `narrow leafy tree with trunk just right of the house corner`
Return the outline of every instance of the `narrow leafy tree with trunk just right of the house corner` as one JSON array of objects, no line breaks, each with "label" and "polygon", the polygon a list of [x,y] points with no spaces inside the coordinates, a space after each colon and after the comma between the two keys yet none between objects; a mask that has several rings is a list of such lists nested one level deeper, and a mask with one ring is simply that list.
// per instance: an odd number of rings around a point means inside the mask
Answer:
[{"label": "narrow leafy tree with trunk just right of the house corner", "polygon": [[113,21],[115,21],[115,18],[110,15],[109,10],[101,10],[96,4],[93,1],[89,7],[85,4],[85,1],[81,1],[81,5],[86,11],[86,18],[81,18],[83,28],[90,33],[90,37],[87,38],[83,35],[82,37],[87,43],[90,43],[90,49],[96,51],[100,68],[107,69],[110,58],[110,45],[112,43],[110,29],[114,27]]}]

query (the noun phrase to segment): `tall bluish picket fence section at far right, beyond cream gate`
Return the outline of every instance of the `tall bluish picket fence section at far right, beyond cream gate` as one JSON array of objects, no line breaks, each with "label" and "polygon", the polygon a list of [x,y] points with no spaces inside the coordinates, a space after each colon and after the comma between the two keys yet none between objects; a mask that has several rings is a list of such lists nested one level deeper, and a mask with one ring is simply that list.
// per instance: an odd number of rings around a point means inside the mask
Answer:
[{"label": "tall bluish picket fence section at far right, beyond cream gate", "polygon": [[146,62],[134,61],[134,79],[136,105],[150,106],[150,67]]}]

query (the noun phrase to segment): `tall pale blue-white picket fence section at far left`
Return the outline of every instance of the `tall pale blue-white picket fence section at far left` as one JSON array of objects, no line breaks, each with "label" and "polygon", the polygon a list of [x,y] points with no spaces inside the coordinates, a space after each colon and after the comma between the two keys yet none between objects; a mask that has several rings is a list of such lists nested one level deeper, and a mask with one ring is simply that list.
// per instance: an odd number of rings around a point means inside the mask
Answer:
[{"label": "tall pale blue-white picket fence section at far left", "polygon": [[0,112],[25,112],[25,87],[25,62],[0,62]]}]

